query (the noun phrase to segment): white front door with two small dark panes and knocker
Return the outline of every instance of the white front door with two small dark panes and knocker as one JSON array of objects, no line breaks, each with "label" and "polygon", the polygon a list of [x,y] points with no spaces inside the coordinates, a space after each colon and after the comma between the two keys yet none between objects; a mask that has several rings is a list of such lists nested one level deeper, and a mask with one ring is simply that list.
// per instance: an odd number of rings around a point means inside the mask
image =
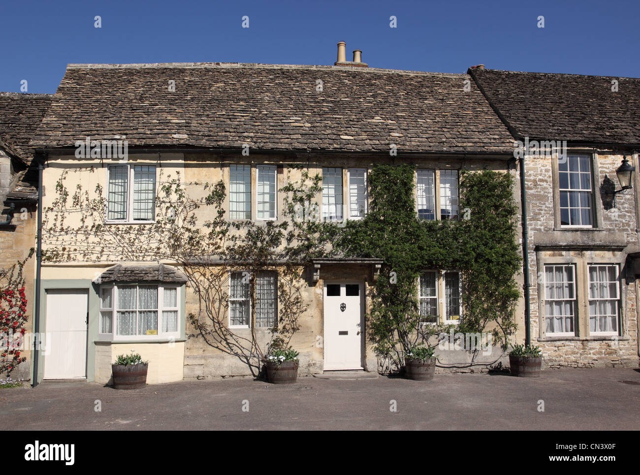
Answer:
[{"label": "white front door with two small dark panes and knocker", "polygon": [[324,369],[362,368],[362,282],[324,282]]}]

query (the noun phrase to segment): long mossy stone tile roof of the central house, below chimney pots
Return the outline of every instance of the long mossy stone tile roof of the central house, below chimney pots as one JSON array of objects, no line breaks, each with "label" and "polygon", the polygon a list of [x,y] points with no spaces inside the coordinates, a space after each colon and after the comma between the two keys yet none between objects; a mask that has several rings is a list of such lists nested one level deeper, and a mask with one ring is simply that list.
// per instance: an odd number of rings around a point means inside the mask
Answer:
[{"label": "long mossy stone tile roof of the central house, below chimney pots", "polygon": [[473,81],[465,92],[465,79],[335,66],[68,65],[31,145],[124,134],[129,147],[512,152],[508,130]]}]

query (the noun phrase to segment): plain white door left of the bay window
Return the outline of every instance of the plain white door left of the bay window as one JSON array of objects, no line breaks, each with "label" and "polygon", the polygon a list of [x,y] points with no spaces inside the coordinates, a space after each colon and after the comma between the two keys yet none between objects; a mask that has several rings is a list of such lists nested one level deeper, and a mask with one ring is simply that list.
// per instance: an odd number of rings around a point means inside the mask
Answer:
[{"label": "plain white door left of the bay window", "polygon": [[47,291],[45,380],[86,378],[87,318],[86,290]]}]

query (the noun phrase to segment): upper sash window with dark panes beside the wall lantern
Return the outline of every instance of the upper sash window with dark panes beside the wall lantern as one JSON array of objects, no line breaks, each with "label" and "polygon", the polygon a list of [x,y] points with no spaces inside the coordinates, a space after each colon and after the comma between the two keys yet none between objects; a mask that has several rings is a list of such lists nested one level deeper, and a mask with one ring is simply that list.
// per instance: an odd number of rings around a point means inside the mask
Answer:
[{"label": "upper sash window with dark panes beside the wall lantern", "polygon": [[558,162],[560,223],[563,226],[593,226],[591,157],[570,155]]}]

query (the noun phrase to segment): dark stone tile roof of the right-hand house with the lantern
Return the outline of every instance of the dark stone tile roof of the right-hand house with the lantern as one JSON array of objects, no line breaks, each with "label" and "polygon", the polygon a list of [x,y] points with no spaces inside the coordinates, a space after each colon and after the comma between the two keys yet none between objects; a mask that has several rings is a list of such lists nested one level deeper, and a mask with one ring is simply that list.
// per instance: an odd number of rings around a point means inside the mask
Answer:
[{"label": "dark stone tile roof of the right-hand house with the lantern", "polygon": [[[516,136],[640,144],[640,79],[470,68]],[[611,81],[618,81],[612,92]]]}]

